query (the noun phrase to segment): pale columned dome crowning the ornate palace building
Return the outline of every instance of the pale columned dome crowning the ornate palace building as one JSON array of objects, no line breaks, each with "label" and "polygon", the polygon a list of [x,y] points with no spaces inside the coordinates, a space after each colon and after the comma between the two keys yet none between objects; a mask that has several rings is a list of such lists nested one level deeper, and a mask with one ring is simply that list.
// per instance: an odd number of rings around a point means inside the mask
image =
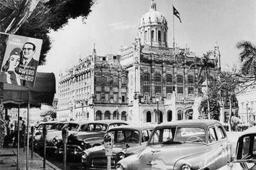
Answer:
[{"label": "pale columned dome crowning the ornate palace building", "polygon": [[150,2],[150,10],[139,20],[139,38],[142,44],[151,47],[168,47],[166,18],[156,11],[156,2]]}]

